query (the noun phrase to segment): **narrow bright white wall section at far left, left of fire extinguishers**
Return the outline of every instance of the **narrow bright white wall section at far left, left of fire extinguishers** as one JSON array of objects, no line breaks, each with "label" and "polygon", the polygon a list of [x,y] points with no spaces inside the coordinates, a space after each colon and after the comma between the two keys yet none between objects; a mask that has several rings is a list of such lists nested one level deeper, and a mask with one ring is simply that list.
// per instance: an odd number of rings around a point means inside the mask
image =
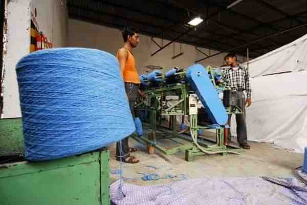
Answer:
[{"label": "narrow bright white wall section at far left, left of fire extinguishers", "polygon": [[4,59],[3,117],[20,117],[18,86],[15,66],[29,53],[30,0],[13,0],[8,3],[7,54]]}]

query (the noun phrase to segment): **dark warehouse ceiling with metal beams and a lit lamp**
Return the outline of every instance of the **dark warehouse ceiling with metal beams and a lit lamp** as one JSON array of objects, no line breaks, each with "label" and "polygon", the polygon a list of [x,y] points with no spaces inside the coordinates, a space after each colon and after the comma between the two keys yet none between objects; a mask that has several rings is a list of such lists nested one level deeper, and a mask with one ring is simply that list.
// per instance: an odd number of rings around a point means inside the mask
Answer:
[{"label": "dark warehouse ceiling with metal beams and a lit lamp", "polygon": [[[70,18],[133,26],[153,37],[244,56],[248,48],[253,58],[307,33],[307,0],[68,0],[67,5]],[[187,22],[195,16],[205,20],[192,28]]]}]

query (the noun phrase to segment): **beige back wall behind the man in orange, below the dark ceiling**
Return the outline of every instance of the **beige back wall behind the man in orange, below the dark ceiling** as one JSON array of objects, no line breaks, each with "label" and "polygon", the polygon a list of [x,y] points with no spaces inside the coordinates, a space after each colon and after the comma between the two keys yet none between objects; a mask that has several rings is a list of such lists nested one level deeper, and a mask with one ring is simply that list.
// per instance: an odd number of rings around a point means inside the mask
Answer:
[{"label": "beige back wall behind the man in orange, below the dark ceiling", "polygon": [[[117,50],[123,45],[121,31],[114,28],[70,18],[68,32],[68,46],[70,47],[95,48],[116,55]],[[161,42],[160,39],[156,39],[156,41]],[[164,45],[167,43],[167,40],[163,41]],[[156,55],[151,56],[151,53],[158,49],[159,47],[151,42],[151,37],[140,35],[140,44],[138,48],[133,50],[136,56],[139,74],[149,70],[145,68],[147,65],[187,68],[194,64],[194,60],[196,59],[195,48],[190,45],[183,44],[184,54],[175,59],[171,59],[173,56],[173,44],[170,44]],[[175,54],[180,53],[180,44],[178,43],[175,45],[175,52]]]}]

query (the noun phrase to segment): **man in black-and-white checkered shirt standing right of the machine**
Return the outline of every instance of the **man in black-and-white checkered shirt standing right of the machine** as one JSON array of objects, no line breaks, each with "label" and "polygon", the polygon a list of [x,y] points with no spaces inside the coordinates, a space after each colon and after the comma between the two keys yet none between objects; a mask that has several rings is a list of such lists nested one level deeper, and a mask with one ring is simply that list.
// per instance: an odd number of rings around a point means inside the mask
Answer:
[{"label": "man in black-and-white checkered shirt standing right of the machine", "polygon": [[[226,61],[226,64],[230,66],[229,69],[226,69],[222,80],[224,82],[228,82],[230,85],[231,90],[242,92],[239,93],[240,96],[242,96],[242,112],[243,114],[236,114],[236,124],[237,124],[237,141],[240,145],[240,147],[244,149],[250,149],[250,146],[247,143],[247,129],[246,129],[246,120],[245,120],[245,106],[249,107],[252,104],[252,90],[251,85],[249,81],[249,72],[248,69],[239,66],[237,64],[237,57],[235,54],[230,53],[225,56],[224,60]],[[247,98],[245,99],[245,95],[243,91],[246,92]],[[228,125],[230,126],[231,121],[231,115],[228,116]],[[231,134],[229,133],[231,136]]]}]

